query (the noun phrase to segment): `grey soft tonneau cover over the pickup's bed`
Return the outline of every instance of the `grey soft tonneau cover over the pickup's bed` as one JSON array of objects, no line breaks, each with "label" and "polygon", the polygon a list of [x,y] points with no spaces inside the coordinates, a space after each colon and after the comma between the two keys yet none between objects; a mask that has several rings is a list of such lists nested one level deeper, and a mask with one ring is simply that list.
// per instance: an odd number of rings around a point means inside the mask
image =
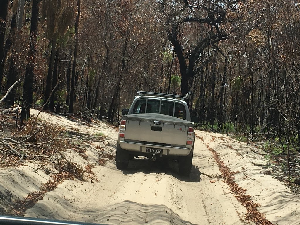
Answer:
[{"label": "grey soft tonneau cover over the pickup's bed", "polygon": [[179,119],[173,116],[168,116],[160,113],[140,113],[140,114],[129,114],[124,115],[122,119],[128,120],[128,123],[130,123],[131,120],[134,121],[145,121],[145,122],[153,122],[155,120],[158,120],[162,122],[163,124],[172,124],[172,125],[184,125],[193,127],[193,123],[184,119]]}]

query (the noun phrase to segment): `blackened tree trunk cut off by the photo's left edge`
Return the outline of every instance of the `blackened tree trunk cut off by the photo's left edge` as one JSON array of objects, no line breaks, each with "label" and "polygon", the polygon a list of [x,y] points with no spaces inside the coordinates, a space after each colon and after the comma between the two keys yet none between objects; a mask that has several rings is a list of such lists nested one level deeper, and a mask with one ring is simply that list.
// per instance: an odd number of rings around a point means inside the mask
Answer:
[{"label": "blackened tree trunk cut off by the photo's left edge", "polygon": [[[7,8],[9,0],[1,0],[1,7],[0,7],[0,62],[4,55],[4,37],[6,31],[6,17],[7,17]],[[2,70],[3,71],[3,70]],[[2,87],[2,78],[3,72],[0,72],[0,93]]]}]

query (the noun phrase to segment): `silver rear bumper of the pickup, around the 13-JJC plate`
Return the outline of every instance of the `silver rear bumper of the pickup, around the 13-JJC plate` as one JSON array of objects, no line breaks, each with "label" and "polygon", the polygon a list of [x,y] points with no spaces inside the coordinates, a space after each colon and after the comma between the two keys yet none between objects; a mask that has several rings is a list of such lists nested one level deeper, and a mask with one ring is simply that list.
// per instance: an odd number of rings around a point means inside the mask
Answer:
[{"label": "silver rear bumper of the pickup, around the 13-JJC plate", "polygon": [[[185,156],[188,155],[191,151],[189,148],[178,148],[178,147],[171,147],[171,146],[159,146],[159,145],[151,145],[151,144],[141,144],[141,143],[134,143],[129,141],[121,141],[119,140],[119,144],[122,149],[128,150],[130,152],[140,152],[147,154],[146,148],[155,148],[155,149],[163,149],[162,155],[170,155],[170,156]],[[192,148],[192,146],[191,146]],[[151,154],[151,153],[148,153]]]}]

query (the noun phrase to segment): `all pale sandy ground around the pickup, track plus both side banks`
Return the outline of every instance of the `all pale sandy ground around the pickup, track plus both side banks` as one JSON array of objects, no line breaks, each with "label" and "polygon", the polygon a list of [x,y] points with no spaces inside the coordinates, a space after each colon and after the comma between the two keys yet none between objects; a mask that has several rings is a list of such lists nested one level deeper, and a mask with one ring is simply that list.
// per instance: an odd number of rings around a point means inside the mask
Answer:
[{"label": "all pale sandy ground around the pickup, track plus both side banks", "polygon": [[[48,122],[64,125],[70,131],[76,130],[87,135],[106,134],[106,145],[103,142],[86,144],[84,147],[89,149],[87,160],[70,152],[70,157],[73,154],[76,163],[82,166],[95,165],[93,181],[64,181],[28,209],[26,216],[104,224],[253,224],[244,221],[246,209],[224,182],[209,147],[217,152],[231,171],[237,172],[235,182],[247,189],[247,194],[254,202],[261,204],[258,210],[270,222],[300,224],[299,196],[291,193],[281,182],[263,174],[264,169],[256,164],[265,164],[264,157],[253,153],[253,149],[255,152],[259,149],[245,143],[225,135],[197,131],[199,138],[195,140],[189,179],[180,177],[177,164],[171,161],[152,163],[134,159],[128,170],[120,171],[116,169],[114,160],[109,160],[104,166],[97,164],[97,151],[115,154],[115,128],[99,122],[87,126],[46,113],[41,116]],[[102,150],[95,148],[97,146]],[[28,163],[28,167],[0,169],[0,196],[11,190],[10,199],[22,199],[38,190],[50,178],[43,170],[32,172],[37,163]],[[20,188],[24,185],[27,185],[25,189]],[[7,196],[4,197],[7,199]]]}]

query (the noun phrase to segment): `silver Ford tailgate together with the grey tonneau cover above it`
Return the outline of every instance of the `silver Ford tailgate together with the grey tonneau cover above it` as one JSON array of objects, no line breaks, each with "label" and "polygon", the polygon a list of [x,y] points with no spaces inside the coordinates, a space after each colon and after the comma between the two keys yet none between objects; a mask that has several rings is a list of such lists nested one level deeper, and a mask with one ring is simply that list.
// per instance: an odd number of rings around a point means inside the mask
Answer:
[{"label": "silver Ford tailgate together with the grey tonneau cover above it", "polygon": [[158,113],[130,114],[126,120],[125,140],[166,146],[186,146],[187,131],[193,124]]}]

